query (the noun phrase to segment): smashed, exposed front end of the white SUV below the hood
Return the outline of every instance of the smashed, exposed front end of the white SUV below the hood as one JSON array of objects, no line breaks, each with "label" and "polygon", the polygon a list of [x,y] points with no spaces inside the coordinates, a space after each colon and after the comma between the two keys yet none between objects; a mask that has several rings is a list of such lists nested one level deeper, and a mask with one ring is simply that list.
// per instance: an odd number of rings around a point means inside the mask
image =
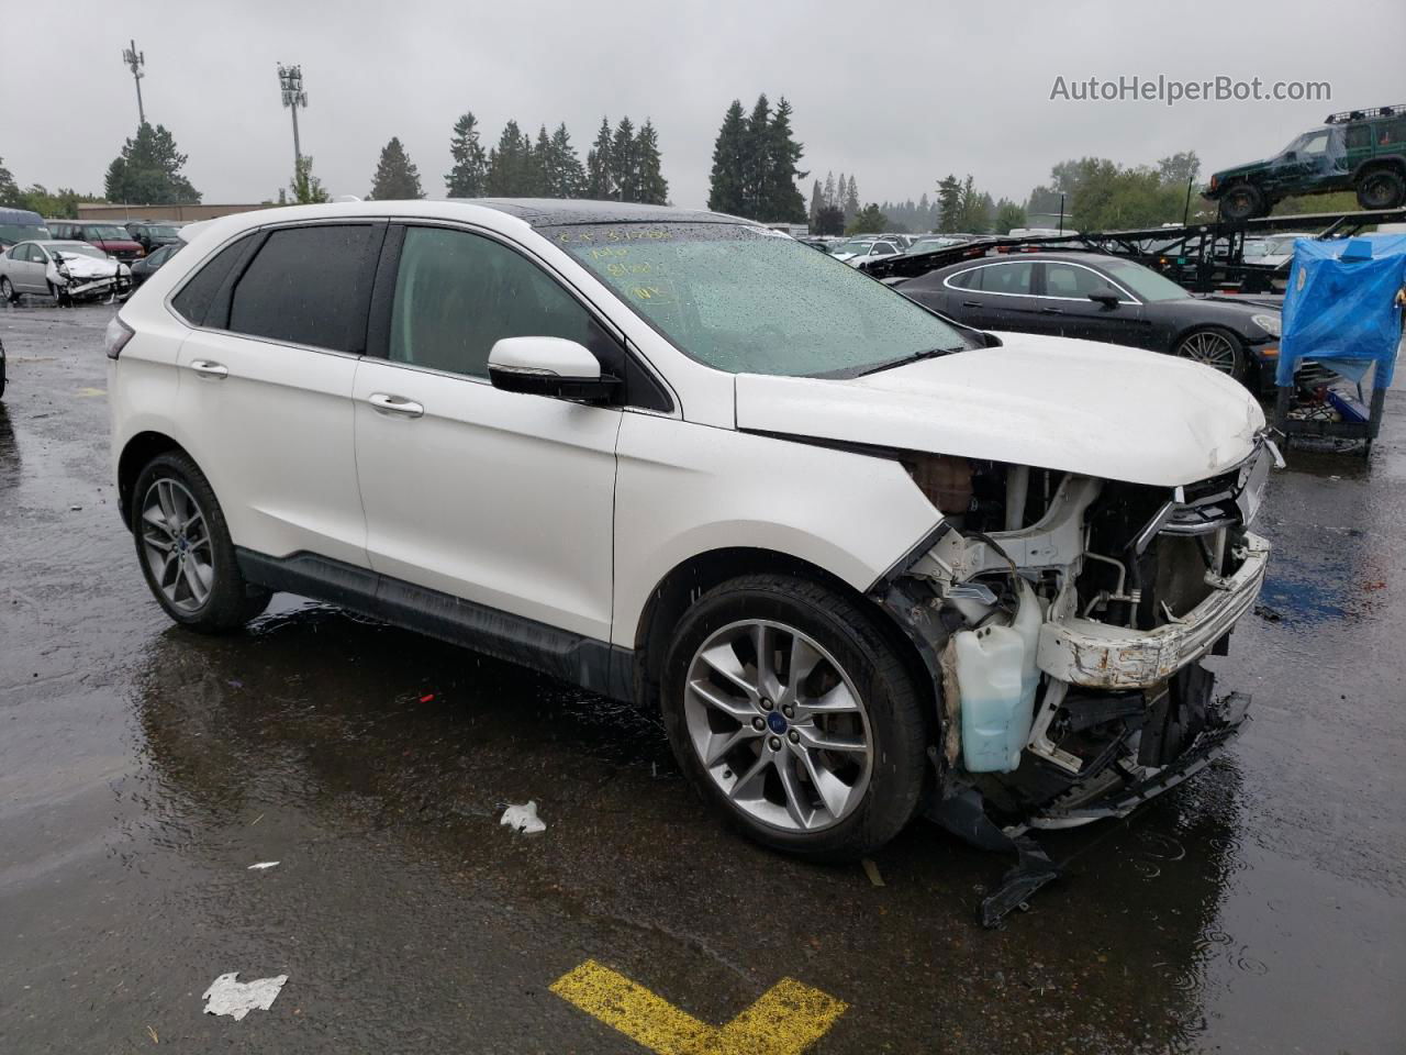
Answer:
[{"label": "smashed, exposed front end of the white SUV below the hood", "polygon": [[1215,757],[1249,698],[1218,698],[1201,661],[1260,592],[1270,546],[1247,528],[1277,460],[1261,437],[1177,488],[908,463],[963,511],[872,591],[939,679],[936,819],[990,843],[1126,816]]}]

